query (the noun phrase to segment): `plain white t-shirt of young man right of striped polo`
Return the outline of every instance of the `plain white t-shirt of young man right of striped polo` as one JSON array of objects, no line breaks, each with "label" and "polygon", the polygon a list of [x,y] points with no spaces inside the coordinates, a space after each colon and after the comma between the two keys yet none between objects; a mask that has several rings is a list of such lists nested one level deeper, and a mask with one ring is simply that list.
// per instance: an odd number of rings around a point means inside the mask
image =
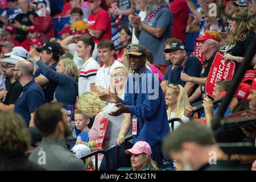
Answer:
[{"label": "plain white t-shirt of young man right of striped polo", "polygon": [[117,60],[114,60],[113,64],[108,68],[105,68],[105,65],[101,67],[96,75],[96,86],[101,86],[102,88],[109,88],[110,86],[110,75],[114,68],[122,67],[123,64]]}]

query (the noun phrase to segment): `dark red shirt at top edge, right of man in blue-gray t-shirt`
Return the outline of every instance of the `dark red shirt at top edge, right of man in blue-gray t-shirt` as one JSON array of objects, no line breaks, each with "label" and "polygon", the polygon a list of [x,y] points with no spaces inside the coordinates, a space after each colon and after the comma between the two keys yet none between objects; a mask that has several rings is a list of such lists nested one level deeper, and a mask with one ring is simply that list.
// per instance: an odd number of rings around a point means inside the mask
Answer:
[{"label": "dark red shirt at top edge, right of man in blue-gray t-shirt", "polygon": [[188,5],[185,0],[175,0],[170,3],[170,10],[174,15],[172,35],[185,43],[186,27],[188,22]]}]

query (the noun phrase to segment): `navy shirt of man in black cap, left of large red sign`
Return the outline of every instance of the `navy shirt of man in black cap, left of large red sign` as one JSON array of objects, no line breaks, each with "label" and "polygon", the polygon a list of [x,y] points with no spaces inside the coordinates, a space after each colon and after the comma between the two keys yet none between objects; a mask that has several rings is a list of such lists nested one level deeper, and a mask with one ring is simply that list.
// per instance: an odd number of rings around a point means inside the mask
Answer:
[{"label": "navy shirt of man in black cap, left of large red sign", "polygon": [[183,87],[186,82],[180,78],[181,73],[187,73],[192,77],[200,77],[202,64],[197,57],[188,57],[183,67],[175,67],[174,70],[168,73],[168,84],[180,84]]}]

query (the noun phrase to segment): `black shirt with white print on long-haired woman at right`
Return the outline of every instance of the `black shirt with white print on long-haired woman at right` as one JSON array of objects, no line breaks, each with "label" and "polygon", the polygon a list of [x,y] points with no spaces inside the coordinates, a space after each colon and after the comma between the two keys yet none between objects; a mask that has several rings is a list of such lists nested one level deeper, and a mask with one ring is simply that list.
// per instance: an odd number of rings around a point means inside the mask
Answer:
[{"label": "black shirt with white print on long-haired woman at right", "polygon": [[[226,45],[223,46],[220,50],[221,54],[230,53],[232,56],[239,56],[239,57],[245,57],[245,53],[247,49],[249,48],[251,42],[254,39],[255,34],[248,34],[246,36],[246,39],[243,41],[238,41],[236,44],[233,45]],[[240,63],[236,63],[236,70],[239,67]],[[251,65],[248,69],[253,69],[253,65]]]}]

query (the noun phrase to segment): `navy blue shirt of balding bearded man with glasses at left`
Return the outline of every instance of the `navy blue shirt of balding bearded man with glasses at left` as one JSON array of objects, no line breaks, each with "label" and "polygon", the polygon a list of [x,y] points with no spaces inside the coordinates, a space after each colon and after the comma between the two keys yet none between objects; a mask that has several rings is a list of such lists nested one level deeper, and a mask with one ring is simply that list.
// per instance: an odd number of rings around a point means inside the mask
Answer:
[{"label": "navy blue shirt of balding bearded man with glasses at left", "polygon": [[23,86],[23,91],[15,102],[14,112],[20,114],[29,126],[30,113],[43,105],[43,101],[44,93],[41,86],[36,84],[35,80],[31,80]]}]

